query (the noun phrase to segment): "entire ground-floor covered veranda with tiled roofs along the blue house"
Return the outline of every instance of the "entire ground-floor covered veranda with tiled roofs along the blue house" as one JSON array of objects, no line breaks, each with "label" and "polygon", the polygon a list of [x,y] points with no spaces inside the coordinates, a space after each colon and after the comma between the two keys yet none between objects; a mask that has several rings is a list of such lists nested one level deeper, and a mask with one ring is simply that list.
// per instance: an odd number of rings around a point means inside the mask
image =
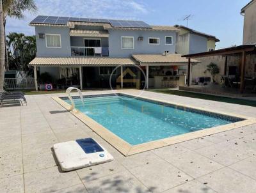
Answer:
[{"label": "entire ground-floor covered veranda with tiled roofs along the blue house", "polygon": [[[199,63],[195,59],[190,62]],[[38,87],[44,89],[45,84],[52,84],[54,89],[66,89],[69,86],[80,89],[184,86],[187,64],[188,59],[182,58],[180,54],[168,53],[134,54],[131,58],[37,57],[29,63],[34,67],[36,91]],[[39,77],[42,73],[50,73],[52,79],[42,81]]]}]

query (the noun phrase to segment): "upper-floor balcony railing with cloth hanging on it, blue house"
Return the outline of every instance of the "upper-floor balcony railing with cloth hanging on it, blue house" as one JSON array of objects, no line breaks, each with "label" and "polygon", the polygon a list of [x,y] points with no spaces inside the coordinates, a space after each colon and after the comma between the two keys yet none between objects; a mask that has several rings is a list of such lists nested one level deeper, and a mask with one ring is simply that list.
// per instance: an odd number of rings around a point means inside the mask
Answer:
[{"label": "upper-floor balcony railing with cloth hanging on it, blue house", "polygon": [[109,56],[108,47],[70,47],[71,56]]}]

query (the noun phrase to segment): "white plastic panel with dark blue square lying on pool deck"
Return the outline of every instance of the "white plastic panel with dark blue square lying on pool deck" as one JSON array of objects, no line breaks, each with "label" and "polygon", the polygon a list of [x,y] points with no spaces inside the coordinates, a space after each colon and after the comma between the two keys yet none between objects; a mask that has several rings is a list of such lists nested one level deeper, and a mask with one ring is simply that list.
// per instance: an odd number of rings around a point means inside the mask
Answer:
[{"label": "white plastic panel with dark blue square lying on pool deck", "polygon": [[110,162],[113,157],[92,138],[77,139],[53,145],[63,171]]}]

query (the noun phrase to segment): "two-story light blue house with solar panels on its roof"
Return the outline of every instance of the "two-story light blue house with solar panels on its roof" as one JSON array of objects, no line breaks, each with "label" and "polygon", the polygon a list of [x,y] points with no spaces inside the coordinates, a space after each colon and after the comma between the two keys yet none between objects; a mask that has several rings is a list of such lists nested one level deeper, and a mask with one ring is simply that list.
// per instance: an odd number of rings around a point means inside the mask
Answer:
[{"label": "two-story light blue house with solar panels on its roof", "polygon": [[123,81],[128,67],[140,84],[161,87],[163,79],[169,80],[166,84],[179,79],[178,66],[187,65],[188,61],[175,54],[180,29],[173,26],[43,15],[32,20],[30,26],[35,26],[36,35],[36,58],[30,63],[34,66],[36,89],[38,82],[46,83],[40,79],[45,72],[56,87],[109,88],[111,82],[114,88],[122,88],[124,84],[134,84]]}]

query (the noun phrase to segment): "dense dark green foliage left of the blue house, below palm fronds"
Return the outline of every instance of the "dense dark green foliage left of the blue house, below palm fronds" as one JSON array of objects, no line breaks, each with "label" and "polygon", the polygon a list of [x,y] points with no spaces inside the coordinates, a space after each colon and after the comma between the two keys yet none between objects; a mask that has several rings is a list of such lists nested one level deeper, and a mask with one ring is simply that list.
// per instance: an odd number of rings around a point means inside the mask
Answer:
[{"label": "dense dark green foliage left of the blue house, below palm fronds", "polygon": [[23,33],[10,33],[7,37],[8,61],[10,68],[22,71],[26,77],[33,73],[28,63],[36,56],[35,36],[25,36]]}]

